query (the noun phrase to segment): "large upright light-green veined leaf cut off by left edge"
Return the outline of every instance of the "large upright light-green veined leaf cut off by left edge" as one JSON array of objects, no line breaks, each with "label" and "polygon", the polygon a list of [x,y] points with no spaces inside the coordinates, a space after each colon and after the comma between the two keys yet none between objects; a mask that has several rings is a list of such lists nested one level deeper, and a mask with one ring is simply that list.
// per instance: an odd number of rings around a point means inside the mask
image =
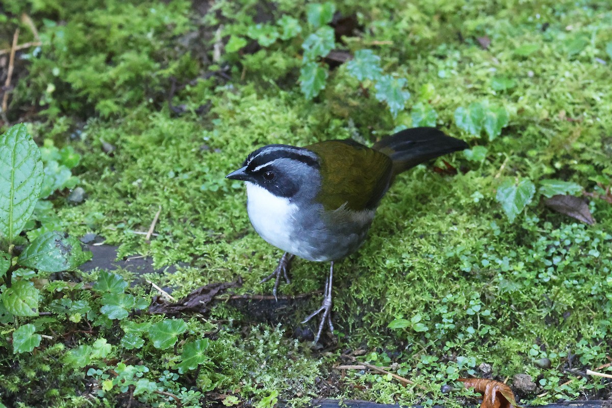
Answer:
[{"label": "large upright light-green veined leaf cut off by left edge", "polygon": [[0,240],[19,235],[38,201],[43,180],[40,150],[18,124],[0,136]]}]

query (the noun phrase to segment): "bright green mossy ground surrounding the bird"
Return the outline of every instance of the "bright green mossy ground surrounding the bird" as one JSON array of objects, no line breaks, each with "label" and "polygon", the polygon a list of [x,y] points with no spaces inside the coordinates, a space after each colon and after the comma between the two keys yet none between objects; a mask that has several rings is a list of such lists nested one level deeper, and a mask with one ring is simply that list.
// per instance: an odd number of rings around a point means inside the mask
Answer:
[{"label": "bright green mossy ground surrounding the bird", "polygon": [[[274,19],[285,14],[304,19],[304,4],[280,1],[268,8],[261,4],[220,2],[209,11],[215,18],[209,15],[207,24],[222,22],[231,34],[253,24],[261,13]],[[122,106],[114,112],[110,102],[103,104],[110,117],[87,119],[82,133],[69,142],[83,155],[77,172],[87,198],[76,206],[57,207],[64,229],[75,236],[99,234],[107,243],[119,245],[120,256],[150,255],[156,267],[185,262],[175,273],[144,276],[171,287],[176,297],[237,276],[243,281],[237,294],[269,294],[272,284],[259,280],[274,269],[280,250],[253,231],[244,188],[224,179],[225,174],[264,144],[302,146],[349,137],[371,143],[398,126],[409,127],[412,106],[425,101],[438,113],[439,127],[471,146],[486,146],[487,155],[480,162],[467,160],[461,152],[445,157],[460,170],[454,176],[421,165],[398,177],[378,209],[367,243],[337,263],[338,346],[314,352],[289,335],[308,308],[318,305],[317,295],[293,316],[293,324],[282,327],[248,321],[221,303],[212,309],[210,321],[189,322],[196,336],[209,335],[217,321],[220,331],[212,335],[211,364],[186,383],[236,395],[245,403],[278,391],[278,398],[291,404],[324,393],[332,398],[458,406],[455,398],[463,393],[442,395],[440,386],[457,377],[482,376],[478,367],[488,363],[496,379],[530,374],[537,391],[524,395],[524,401],[533,404],[585,394],[610,395],[610,382],[581,373],[608,363],[612,355],[612,206],[592,199],[589,208],[597,224],[586,226],[534,202],[510,223],[495,201],[496,187],[505,177],[571,180],[599,193],[596,182],[610,185],[612,55],[606,54],[606,44],[612,49],[610,3],[371,0],[348,1],[337,8],[357,13],[364,25],[348,48],[376,47],[383,68],[408,80],[412,96],[405,112],[394,118],[384,104],[360,89],[345,65],[330,72],[319,97],[305,99],[296,82],[299,39],[255,53],[230,54],[225,56],[230,66],[227,78],[193,81],[173,95],[174,106],[185,105],[179,116],[155,97],[141,102],[141,95],[133,99],[127,95],[114,100]],[[45,12],[49,13],[39,13]],[[168,19],[180,21],[173,26],[182,28],[177,34],[181,39],[195,31],[185,20],[201,23],[184,2],[166,12]],[[488,49],[476,40],[485,36],[490,39]],[[189,44],[185,40],[181,46],[185,43]],[[121,45],[116,46],[121,50]],[[60,52],[56,51],[58,59],[65,57]],[[159,52],[147,55],[156,57]],[[180,61],[198,73],[206,64],[194,54],[196,62],[187,57]],[[152,72],[177,70],[172,64],[161,65]],[[32,72],[35,69],[42,68],[35,65]],[[163,83],[172,75],[166,75],[168,71],[155,80]],[[512,86],[496,91],[491,82],[500,77],[512,80]],[[134,78],[119,85],[139,86]],[[81,86],[80,108],[99,105],[96,98],[113,100],[108,94],[88,94],[86,84]],[[74,83],[72,87],[77,89]],[[509,125],[493,141],[467,135],[453,117],[457,107],[485,99],[510,112]],[[51,106],[57,111],[47,124],[31,125],[39,141],[49,135],[56,141],[69,139],[66,118],[72,120],[75,114],[56,102]],[[207,113],[196,113],[206,104]],[[100,106],[93,109],[106,114]],[[103,144],[116,149],[109,154]],[[444,167],[441,161],[438,165]],[[147,231],[159,208],[158,235],[147,242],[134,231]],[[327,264],[298,260],[291,284],[280,291],[288,295],[321,291],[327,270]],[[97,275],[80,278],[93,281]],[[148,288],[137,286],[133,291],[144,295]],[[397,318],[413,325],[389,328]],[[118,326],[108,330],[121,335]],[[78,342],[89,344],[94,339]],[[364,360],[394,365],[427,391],[403,387],[378,374],[348,371],[340,379],[332,365],[347,349],[364,350],[366,355],[359,357]],[[58,352],[49,350],[47,354]],[[116,352],[118,358],[129,355],[119,348]],[[141,364],[155,375],[168,369],[156,360],[160,357],[171,359],[151,347],[138,351]],[[536,365],[540,358],[549,358],[550,368]],[[18,361],[24,372],[3,373],[2,378],[13,385],[20,378],[33,381],[40,368],[28,371],[28,358],[21,356]],[[54,365],[49,369],[61,371]],[[57,386],[62,394],[53,395],[54,404],[76,403],[66,394],[69,380],[64,377],[82,379],[84,374],[62,374],[64,382]],[[13,388],[5,391],[18,394],[18,387]]]}]

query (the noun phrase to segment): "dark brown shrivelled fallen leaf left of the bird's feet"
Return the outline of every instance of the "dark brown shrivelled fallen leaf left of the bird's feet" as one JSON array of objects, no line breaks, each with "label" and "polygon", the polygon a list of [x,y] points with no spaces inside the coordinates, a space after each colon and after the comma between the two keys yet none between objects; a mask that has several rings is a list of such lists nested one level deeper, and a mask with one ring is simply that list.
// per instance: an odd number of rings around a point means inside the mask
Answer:
[{"label": "dark brown shrivelled fallen leaf left of the bird's feet", "polygon": [[199,287],[175,303],[170,303],[160,296],[154,296],[149,306],[151,314],[166,314],[168,316],[178,316],[184,313],[205,314],[209,310],[208,304],[214,300],[215,296],[230,287],[242,286],[242,280],[238,278],[236,282],[210,283]]}]

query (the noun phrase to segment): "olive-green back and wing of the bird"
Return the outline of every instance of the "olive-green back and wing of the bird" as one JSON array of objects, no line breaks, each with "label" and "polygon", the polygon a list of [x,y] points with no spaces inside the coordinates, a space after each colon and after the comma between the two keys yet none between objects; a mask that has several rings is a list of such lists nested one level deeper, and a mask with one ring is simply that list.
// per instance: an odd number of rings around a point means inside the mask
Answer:
[{"label": "olive-green back and wing of the bird", "polygon": [[351,210],[375,209],[392,173],[391,159],[353,140],[329,140],[310,146],[319,156],[323,186],[318,198],[326,210],[346,204]]}]

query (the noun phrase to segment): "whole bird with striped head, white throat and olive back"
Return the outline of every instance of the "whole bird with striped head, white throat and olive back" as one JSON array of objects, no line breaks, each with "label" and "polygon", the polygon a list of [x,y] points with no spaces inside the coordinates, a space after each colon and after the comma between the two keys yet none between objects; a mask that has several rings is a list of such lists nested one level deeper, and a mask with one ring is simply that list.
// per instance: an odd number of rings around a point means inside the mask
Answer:
[{"label": "whole bird with striped head, white throat and olive back", "polygon": [[248,154],[241,168],[226,176],[242,180],[247,212],[255,231],[285,253],[261,282],[281,276],[287,283],[294,256],[330,262],[321,307],[302,324],[321,314],[316,344],[332,324],[334,262],[365,242],[379,202],[401,172],[420,163],[468,148],[468,144],[434,127],[401,130],[372,147],[353,139],[326,140],[309,146],[269,144]]}]

